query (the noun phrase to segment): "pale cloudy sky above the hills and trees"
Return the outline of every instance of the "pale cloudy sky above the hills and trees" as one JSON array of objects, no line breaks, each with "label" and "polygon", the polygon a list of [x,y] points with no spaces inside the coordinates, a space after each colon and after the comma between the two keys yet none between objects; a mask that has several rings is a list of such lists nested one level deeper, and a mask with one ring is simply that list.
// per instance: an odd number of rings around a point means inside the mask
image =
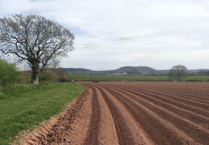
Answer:
[{"label": "pale cloudy sky above the hills and trees", "polygon": [[0,0],[0,17],[35,14],[68,28],[60,67],[209,69],[208,0]]}]

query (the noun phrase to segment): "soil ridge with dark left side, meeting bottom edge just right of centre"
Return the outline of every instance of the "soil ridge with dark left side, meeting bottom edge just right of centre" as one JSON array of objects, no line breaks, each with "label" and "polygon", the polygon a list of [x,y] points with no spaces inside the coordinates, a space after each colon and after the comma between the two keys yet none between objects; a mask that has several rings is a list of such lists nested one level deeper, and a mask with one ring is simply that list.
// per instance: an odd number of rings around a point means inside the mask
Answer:
[{"label": "soil ridge with dark left side, meeting bottom edge just right of centre", "polygon": [[127,110],[104,88],[98,87],[105,98],[111,113],[114,116],[115,126],[119,138],[119,144],[153,144],[150,139],[146,139],[141,127],[138,127]]}]

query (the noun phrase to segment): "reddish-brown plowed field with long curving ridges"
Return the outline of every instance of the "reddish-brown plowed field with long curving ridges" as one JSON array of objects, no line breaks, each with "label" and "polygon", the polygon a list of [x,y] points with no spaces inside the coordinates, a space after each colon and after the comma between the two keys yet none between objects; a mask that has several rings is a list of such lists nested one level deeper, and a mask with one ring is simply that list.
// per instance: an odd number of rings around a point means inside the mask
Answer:
[{"label": "reddish-brown plowed field with long curving ridges", "polygon": [[81,84],[78,99],[21,143],[209,145],[209,83]]}]

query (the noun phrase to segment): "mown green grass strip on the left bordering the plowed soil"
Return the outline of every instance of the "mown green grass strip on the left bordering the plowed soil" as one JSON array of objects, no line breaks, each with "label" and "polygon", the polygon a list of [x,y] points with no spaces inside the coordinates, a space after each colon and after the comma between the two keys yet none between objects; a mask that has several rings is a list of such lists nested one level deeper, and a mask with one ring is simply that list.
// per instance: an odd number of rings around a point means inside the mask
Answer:
[{"label": "mown green grass strip on the left bordering the plowed soil", "polygon": [[83,86],[76,83],[15,85],[13,91],[4,91],[0,98],[0,145],[59,113],[82,91]]}]

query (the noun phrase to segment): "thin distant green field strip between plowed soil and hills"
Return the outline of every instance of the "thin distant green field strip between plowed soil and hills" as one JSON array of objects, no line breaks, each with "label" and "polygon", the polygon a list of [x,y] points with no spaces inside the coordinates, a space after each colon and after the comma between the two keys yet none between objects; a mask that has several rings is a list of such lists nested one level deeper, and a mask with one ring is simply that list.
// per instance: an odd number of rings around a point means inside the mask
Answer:
[{"label": "thin distant green field strip between plowed soil and hills", "polygon": [[[169,79],[168,76],[116,76],[116,75],[66,75],[70,80],[75,81],[177,81],[177,79]],[[183,78],[182,81],[188,80],[204,80],[207,81],[209,76],[188,76]]]}]

